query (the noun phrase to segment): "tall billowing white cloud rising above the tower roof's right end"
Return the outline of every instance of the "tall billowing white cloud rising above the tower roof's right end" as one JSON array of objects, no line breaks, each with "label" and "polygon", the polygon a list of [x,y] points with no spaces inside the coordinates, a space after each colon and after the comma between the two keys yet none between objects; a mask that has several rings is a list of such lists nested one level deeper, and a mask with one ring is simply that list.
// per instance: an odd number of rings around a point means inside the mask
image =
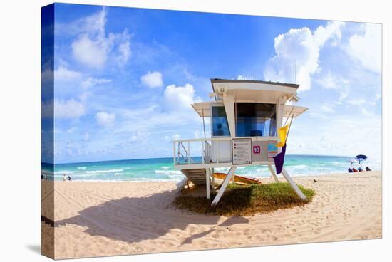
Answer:
[{"label": "tall billowing white cloud rising above the tower roof's right end", "polygon": [[329,39],[340,41],[342,22],[329,22],[314,32],[290,29],[274,40],[275,56],[264,69],[265,80],[299,83],[299,90],[311,89],[311,75],[319,70],[319,52]]}]

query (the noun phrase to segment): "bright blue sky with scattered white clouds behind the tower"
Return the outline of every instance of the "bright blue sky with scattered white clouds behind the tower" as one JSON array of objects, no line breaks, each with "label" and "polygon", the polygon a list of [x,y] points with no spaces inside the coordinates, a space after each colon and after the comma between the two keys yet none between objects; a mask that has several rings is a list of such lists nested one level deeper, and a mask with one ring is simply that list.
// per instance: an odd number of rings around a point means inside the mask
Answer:
[{"label": "bright blue sky with scattered white clouds behind the tower", "polygon": [[[381,25],[56,4],[57,163],[172,157],[210,78],[294,83],[288,154],[381,156]],[[43,72],[44,74],[45,72]],[[208,128],[207,128],[207,131]]]}]

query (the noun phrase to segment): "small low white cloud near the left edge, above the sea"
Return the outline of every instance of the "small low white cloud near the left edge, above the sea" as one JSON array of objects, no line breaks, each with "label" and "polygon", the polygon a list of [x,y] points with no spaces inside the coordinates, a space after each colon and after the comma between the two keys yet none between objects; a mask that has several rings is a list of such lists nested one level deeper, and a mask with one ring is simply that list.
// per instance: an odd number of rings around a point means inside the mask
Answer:
[{"label": "small low white cloud near the left edge, above the sea", "polygon": [[74,100],[56,100],[54,103],[54,115],[57,118],[78,118],[86,114],[83,103]]}]

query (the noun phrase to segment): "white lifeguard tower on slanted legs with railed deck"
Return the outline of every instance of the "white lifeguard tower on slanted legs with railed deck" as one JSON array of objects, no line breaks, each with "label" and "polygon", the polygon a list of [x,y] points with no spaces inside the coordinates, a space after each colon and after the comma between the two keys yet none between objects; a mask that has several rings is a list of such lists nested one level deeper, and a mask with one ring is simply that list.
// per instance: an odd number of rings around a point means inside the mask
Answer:
[{"label": "white lifeguard tower on slanted legs with railed deck", "polygon": [[[308,108],[286,105],[296,103],[299,85],[260,80],[211,79],[211,98],[215,101],[194,103],[192,107],[202,117],[204,137],[174,140],[174,167],[180,169],[193,184],[206,185],[210,199],[210,184],[214,184],[214,168],[229,167],[219,192],[212,201],[216,205],[232,179],[237,167],[267,165],[278,182],[274,157],[277,130],[284,117],[297,117]],[[211,137],[205,136],[205,117],[210,117]],[[296,186],[285,169],[284,178],[301,199],[306,196]]]}]

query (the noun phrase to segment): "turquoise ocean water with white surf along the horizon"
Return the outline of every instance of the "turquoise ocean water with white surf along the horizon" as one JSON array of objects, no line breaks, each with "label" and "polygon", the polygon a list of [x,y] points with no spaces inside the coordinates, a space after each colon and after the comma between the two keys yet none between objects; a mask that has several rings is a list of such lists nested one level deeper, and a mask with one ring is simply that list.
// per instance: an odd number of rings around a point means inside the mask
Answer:
[{"label": "turquoise ocean water with white surf along the horizon", "polygon": [[[310,176],[321,174],[333,174],[347,172],[351,167],[351,157],[328,157],[314,155],[287,155],[284,168],[290,175]],[[361,163],[364,168],[381,170],[381,161],[368,159]],[[354,167],[359,164],[354,163]],[[227,172],[229,168],[216,168],[215,172]],[[173,159],[134,159],[103,162],[83,162],[72,164],[56,164],[53,172],[48,165],[43,164],[43,173],[47,173],[49,179],[62,180],[63,174],[71,177],[73,181],[180,181],[184,176],[180,170],[173,167]],[[270,177],[267,166],[238,167],[236,174],[249,177]]]}]

